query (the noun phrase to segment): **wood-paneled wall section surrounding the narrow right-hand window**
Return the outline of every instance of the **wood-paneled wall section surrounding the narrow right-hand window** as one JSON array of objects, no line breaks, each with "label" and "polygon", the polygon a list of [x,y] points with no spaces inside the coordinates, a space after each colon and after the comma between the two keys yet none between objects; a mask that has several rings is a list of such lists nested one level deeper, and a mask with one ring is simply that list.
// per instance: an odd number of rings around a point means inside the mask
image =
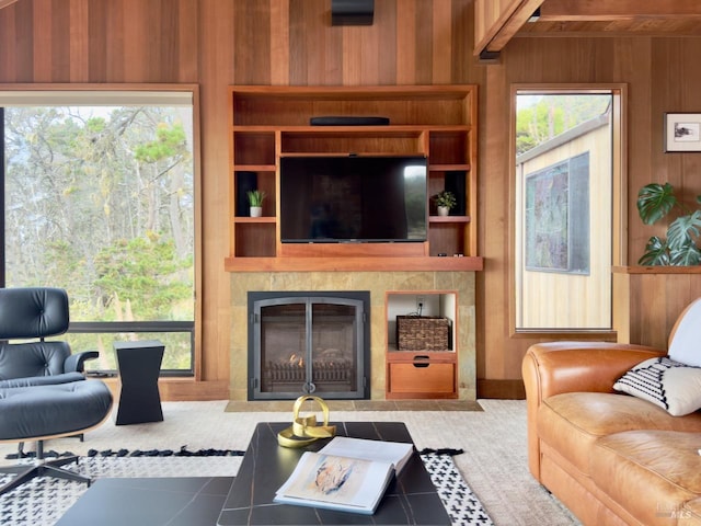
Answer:
[{"label": "wood-paneled wall section surrounding the narrow right-hand window", "polygon": [[[512,338],[508,334],[508,298],[510,295],[508,236],[513,194],[509,174],[509,87],[513,83],[617,83],[628,84],[628,181],[624,196],[628,206],[628,242],[622,264],[634,265],[650,236],[664,235],[658,227],[643,226],[637,217],[637,191],[650,182],[671,182],[685,192],[686,201],[701,194],[701,156],[663,151],[663,116],[665,112],[701,111],[701,96],[696,87],[701,71],[694,66],[701,53],[697,37],[517,37],[502,53],[499,65],[490,66],[482,102],[486,117],[482,121],[480,155],[480,232],[481,254],[485,272],[479,281],[476,305],[484,308],[478,319],[478,378],[484,396],[490,380],[495,384],[520,378],[524,353],[536,338]],[[655,283],[654,286],[651,284]],[[623,309],[633,343],[656,345],[666,342],[671,323],[680,312],[679,301],[689,290],[701,289],[701,274],[676,274],[656,279],[631,277],[625,295],[618,294],[614,308]],[[641,289],[645,287],[645,289]],[[664,290],[664,294],[660,291]],[[651,325],[650,320],[658,322]],[[664,320],[664,321],[663,321]],[[658,328],[652,334],[646,328]],[[662,334],[660,334],[662,333]],[[628,334],[627,334],[628,336]],[[486,380],[486,381],[485,381]]]}]

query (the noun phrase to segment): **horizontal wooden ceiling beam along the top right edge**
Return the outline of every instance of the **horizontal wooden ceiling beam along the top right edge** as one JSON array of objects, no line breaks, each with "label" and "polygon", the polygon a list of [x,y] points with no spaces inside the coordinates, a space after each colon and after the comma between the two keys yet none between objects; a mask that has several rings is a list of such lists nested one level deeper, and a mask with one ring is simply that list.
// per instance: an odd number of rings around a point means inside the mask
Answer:
[{"label": "horizontal wooden ceiling beam along the top right edge", "polygon": [[606,22],[611,20],[701,16],[699,0],[545,0],[543,22]]}]

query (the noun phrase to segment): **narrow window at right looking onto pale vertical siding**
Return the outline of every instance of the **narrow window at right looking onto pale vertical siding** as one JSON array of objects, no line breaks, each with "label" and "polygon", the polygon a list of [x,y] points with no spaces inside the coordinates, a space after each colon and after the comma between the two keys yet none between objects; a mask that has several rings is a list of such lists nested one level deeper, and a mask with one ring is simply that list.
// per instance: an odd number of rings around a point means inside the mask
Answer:
[{"label": "narrow window at right looking onto pale vertical siding", "polygon": [[617,89],[515,89],[515,330],[610,331]]}]

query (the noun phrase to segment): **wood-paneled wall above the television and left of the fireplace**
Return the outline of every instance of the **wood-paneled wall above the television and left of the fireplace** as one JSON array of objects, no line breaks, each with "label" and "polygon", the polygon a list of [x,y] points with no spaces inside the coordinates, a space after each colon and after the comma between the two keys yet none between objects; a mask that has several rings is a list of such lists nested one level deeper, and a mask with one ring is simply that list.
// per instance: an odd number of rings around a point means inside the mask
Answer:
[{"label": "wood-paneled wall above the television and left of the fireplace", "polygon": [[[331,0],[18,0],[0,10],[0,83],[200,87],[202,387],[228,398],[229,84],[478,83],[472,0],[381,0],[372,26],[331,26]],[[235,278],[235,277],[234,277]]]}]

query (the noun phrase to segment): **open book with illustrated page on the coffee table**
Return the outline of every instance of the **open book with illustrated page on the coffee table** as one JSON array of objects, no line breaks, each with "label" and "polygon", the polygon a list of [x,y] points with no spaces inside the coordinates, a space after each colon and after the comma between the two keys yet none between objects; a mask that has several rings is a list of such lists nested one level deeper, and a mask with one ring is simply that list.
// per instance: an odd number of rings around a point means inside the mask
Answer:
[{"label": "open book with illustrated page on the coffee table", "polygon": [[412,451],[412,444],[337,436],[302,455],[275,502],[370,515]]}]

